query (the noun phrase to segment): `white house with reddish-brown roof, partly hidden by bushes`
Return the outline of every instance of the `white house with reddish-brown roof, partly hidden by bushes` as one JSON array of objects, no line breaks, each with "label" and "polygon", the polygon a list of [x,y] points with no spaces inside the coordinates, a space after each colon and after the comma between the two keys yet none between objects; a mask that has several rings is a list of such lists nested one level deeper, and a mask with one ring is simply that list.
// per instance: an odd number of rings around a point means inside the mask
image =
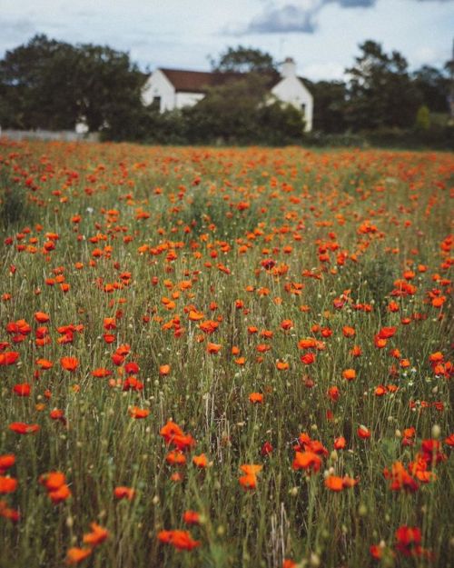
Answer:
[{"label": "white house with reddish-brown roof, partly hidden by bushes", "polygon": [[[143,104],[156,105],[163,113],[174,108],[192,106],[205,95],[209,86],[225,85],[238,80],[241,73],[204,73],[181,69],[158,68],[143,87]],[[276,98],[300,109],[306,121],[306,132],[312,129],[313,97],[301,78],[291,57],[281,64],[281,77],[270,75],[270,91]]]}]

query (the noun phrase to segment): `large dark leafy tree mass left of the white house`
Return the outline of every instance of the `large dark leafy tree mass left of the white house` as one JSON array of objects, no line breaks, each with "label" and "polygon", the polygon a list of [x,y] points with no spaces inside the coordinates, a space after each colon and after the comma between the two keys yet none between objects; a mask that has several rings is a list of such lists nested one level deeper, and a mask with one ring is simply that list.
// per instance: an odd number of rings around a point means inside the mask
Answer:
[{"label": "large dark leafy tree mass left of the white house", "polygon": [[0,61],[0,120],[49,130],[84,121],[92,132],[127,137],[141,120],[145,79],[126,53],[35,35]]}]

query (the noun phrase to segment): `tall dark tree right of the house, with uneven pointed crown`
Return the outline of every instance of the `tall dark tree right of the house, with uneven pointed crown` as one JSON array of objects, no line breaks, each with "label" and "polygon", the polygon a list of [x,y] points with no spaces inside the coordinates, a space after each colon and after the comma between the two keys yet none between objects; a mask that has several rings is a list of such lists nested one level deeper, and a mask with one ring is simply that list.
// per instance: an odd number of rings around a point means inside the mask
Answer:
[{"label": "tall dark tree right of the house, with uneven pointed crown", "polygon": [[406,128],[414,124],[421,95],[410,80],[406,59],[399,52],[383,52],[366,41],[350,75],[346,119],[353,130],[380,126]]}]

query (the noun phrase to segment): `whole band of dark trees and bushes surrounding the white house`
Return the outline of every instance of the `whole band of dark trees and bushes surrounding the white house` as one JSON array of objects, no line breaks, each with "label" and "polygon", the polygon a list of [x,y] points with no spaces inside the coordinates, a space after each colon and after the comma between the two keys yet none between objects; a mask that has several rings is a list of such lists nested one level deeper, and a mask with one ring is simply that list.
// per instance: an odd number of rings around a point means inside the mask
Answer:
[{"label": "whole band of dark trees and bushes surrounding the white house", "polygon": [[[367,41],[347,80],[304,80],[314,97],[313,132],[300,111],[270,98],[278,65],[260,50],[229,48],[213,70],[244,73],[209,89],[197,105],[160,114],[143,105],[148,74],[128,54],[35,35],[0,60],[0,125],[73,130],[159,144],[428,144],[449,146],[453,62],[410,73],[398,52]],[[452,93],[451,93],[452,96]]]}]

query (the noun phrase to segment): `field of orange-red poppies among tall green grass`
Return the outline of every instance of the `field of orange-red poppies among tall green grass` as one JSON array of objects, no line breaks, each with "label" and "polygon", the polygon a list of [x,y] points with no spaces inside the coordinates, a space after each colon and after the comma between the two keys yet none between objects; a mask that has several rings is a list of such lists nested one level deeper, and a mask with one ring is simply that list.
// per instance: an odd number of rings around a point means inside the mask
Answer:
[{"label": "field of orange-red poppies among tall green grass", "polygon": [[447,567],[450,154],[0,141],[0,567]]}]

